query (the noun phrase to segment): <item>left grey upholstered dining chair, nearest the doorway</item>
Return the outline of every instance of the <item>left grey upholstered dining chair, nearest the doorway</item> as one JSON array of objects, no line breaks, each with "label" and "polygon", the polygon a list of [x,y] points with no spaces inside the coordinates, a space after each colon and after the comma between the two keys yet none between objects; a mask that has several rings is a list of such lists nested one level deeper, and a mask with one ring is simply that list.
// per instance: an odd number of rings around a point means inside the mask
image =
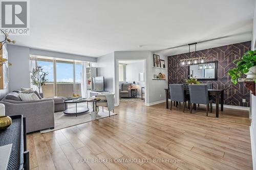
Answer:
[{"label": "left grey upholstered dining chair, nearest the doorway", "polygon": [[172,110],[173,101],[183,102],[183,113],[185,112],[185,103],[189,101],[189,95],[185,94],[183,84],[170,84],[170,110]]}]

